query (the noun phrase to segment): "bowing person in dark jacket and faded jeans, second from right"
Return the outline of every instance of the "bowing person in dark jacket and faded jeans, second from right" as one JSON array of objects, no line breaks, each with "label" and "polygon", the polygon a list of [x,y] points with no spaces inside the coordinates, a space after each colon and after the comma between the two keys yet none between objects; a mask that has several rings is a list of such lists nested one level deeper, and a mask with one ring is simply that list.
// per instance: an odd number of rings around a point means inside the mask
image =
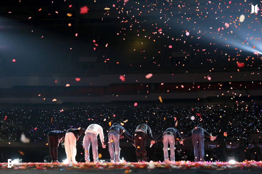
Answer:
[{"label": "bowing person in dark jacket and faded jeans, second from right", "polygon": [[175,127],[167,128],[157,139],[152,140],[151,144],[154,144],[160,140],[164,144],[164,160],[168,159],[168,143],[170,144],[170,161],[175,161],[175,144],[180,140],[180,133]]}]

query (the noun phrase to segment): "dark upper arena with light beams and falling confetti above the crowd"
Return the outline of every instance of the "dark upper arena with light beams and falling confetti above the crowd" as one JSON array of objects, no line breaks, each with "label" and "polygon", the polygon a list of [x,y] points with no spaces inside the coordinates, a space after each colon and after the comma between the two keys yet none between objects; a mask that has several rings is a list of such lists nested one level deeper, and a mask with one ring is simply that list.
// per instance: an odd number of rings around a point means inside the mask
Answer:
[{"label": "dark upper arena with light beams and falling confetti above the crowd", "polygon": [[[251,4],[258,4],[257,13],[251,13]],[[244,90],[261,90],[261,4],[2,1],[1,101],[16,96],[22,103],[21,97],[39,97],[38,93],[45,93],[41,101],[50,97],[51,103],[56,96],[91,95],[103,98],[93,101],[112,102],[118,99],[109,95],[122,94],[123,101],[136,100],[125,95],[148,94],[150,98],[151,93],[157,93],[151,97],[157,100],[159,93],[167,92],[173,95],[166,98],[179,100],[183,96],[174,94],[178,91],[200,101],[231,93],[231,101]],[[195,91],[193,95],[192,89],[199,85],[202,92],[215,92],[198,96]],[[115,90],[121,88],[129,90]],[[258,91],[245,91],[246,97],[250,93],[260,96]]]}]

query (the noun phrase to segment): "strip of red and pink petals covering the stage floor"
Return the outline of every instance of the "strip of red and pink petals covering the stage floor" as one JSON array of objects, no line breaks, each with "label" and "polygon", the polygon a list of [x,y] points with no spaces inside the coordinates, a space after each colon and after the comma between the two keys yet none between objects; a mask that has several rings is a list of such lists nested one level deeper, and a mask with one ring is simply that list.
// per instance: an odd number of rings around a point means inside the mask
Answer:
[{"label": "strip of red and pink petals covering the stage floor", "polygon": [[21,163],[21,165],[12,166],[8,168],[8,163],[0,163],[1,169],[125,169],[125,173],[130,173],[132,169],[247,169],[247,168],[261,168],[262,161],[244,161],[231,164],[229,162],[124,162],[124,163]]}]

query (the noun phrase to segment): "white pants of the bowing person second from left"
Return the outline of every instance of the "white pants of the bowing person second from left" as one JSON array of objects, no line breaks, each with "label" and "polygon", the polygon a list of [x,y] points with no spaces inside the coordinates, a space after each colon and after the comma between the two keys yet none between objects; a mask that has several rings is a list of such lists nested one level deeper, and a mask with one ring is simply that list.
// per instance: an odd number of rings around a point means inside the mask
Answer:
[{"label": "white pants of the bowing person second from left", "polygon": [[74,133],[68,132],[65,134],[65,153],[68,162],[76,162],[76,138]]}]

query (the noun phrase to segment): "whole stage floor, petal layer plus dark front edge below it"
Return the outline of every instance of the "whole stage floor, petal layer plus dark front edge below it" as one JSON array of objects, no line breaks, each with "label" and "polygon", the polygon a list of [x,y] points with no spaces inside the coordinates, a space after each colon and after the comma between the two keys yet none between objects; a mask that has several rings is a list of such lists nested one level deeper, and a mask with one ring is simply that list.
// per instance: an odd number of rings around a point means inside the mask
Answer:
[{"label": "whole stage floor, petal layer plus dark front edge below it", "polygon": [[261,173],[262,161],[260,162],[185,162],[179,161],[171,163],[145,162],[145,163],[21,163],[21,165],[8,168],[7,163],[0,163],[0,173]]}]

